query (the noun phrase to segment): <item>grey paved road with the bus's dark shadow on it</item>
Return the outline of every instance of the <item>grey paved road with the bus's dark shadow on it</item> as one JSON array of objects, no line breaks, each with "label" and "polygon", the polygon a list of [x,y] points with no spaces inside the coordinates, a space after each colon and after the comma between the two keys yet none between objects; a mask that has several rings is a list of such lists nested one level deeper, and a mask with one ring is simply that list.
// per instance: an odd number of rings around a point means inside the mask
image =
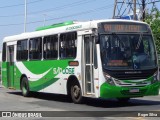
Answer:
[{"label": "grey paved road with the bus's dark shadow on it", "polygon": [[[97,99],[86,99],[84,104],[74,104],[68,101],[68,98],[64,95],[54,95],[54,94],[34,94],[29,98],[25,98],[21,95],[20,91],[11,90],[3,88],[0,86],[0,111],[72,111],[71,113],[59,112],[57,113],[58,117],[56,119],[67,119],[71,120],[70,117],[60,117],[64,114],[82,114],[86,113],[74,112],[74,111],[115,111],[113,115],[117,114],[116,111],[121,111],[122,116],[127,116],[130,114],[128,111],[160,111],[160,96],[153,97],[144,97],[132,99],[129,103],[118,103],[116,100],[97,100]],[[55,114],[55,113],[53,113]],[[91,114],[94,114],[91,113]],[[101,114],[101,113],[100,113]],[[74,116],[73,115],[73,116]],[[4,118],[3,118],[4,119]],[[22,118],[14,118],[21,120]],[[32,118],[35,119],[35,118]],[[39,120],[40,118],[37,118]],[[41,118],[46,119],[46,118]],[[48,118],[53,119],[53,118]],[[55,119],[55,118],[54,118]],[[75,118],[72,118],[75,119]],[[84,119],[82,117],[76,117],[76,120]],[[127,119],[157,119],[155,118],[143,118],[143,117],[87,117],[87,120],[127,120]]]}]

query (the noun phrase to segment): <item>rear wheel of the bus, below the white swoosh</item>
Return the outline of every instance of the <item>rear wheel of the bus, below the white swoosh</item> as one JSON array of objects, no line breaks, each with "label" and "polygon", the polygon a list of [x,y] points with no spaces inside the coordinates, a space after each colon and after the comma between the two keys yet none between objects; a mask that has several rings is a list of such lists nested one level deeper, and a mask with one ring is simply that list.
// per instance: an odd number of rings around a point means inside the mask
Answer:
[{"label": "rear wheel of the bus, below the white swoosh", "polygon": [[28,85],[28,79],[26,77],[22,78],[21,81],[21,90],[22,90],[22,95],[24,97],[28,97],[30,92],[29,92],[29,85]]}]

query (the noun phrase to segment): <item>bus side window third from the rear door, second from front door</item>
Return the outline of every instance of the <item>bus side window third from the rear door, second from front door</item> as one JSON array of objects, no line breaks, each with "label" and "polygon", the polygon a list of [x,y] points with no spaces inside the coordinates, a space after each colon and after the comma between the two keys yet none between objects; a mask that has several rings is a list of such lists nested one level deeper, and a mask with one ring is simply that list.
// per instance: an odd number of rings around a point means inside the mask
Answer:
[{"label": "bus side window third from the rear door, second from front door", "polygon": [[57,57],[58,57],[58,35],[44,37],[43,58],[56,59]]}]

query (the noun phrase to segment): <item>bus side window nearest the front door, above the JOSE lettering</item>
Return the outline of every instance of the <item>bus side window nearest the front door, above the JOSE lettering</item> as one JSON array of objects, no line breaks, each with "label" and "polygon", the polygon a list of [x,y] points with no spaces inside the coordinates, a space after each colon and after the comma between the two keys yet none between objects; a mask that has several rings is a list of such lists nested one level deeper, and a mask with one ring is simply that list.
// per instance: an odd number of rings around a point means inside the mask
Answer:
[{"label": "bus side window nearest the front door, above the JOSE lettering", "polygon": [[77,51],[77,33],[60,35],[60,58],[75,58]]}]

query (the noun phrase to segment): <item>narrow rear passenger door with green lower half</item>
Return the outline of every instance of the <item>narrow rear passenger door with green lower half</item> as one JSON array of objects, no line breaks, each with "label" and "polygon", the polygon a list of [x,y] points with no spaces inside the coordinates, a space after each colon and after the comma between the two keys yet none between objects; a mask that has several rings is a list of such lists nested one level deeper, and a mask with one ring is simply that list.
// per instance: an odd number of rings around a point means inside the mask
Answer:
[{"label": "narrow rear passenger door with green lower half", "polygon": [[14,45],[7,47],[7,87],[14,83]]}]

